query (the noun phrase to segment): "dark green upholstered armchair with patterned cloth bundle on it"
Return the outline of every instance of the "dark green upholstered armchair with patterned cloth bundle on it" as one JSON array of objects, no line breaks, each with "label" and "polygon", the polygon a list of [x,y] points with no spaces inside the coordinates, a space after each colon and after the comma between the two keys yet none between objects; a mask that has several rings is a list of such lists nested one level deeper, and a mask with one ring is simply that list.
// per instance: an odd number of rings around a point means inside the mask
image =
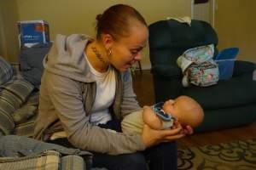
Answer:
[{"label": "dark green upholstered armchair with patterned cloth bundle on it", "polygon": [[255,64],[236,60],[233,76],[207,88],[182,86],[182,71],[177,57],[186,49],[206,44],[215,45],[218,36],[212,26],[192,20],[191,26],[177,20],[160,20],[149,26],[149,52],[154,77],[155,100],[174,99],[188,95],[197,100],[205,111],[205,119],[195,133],[238,127],[256,120]]}]

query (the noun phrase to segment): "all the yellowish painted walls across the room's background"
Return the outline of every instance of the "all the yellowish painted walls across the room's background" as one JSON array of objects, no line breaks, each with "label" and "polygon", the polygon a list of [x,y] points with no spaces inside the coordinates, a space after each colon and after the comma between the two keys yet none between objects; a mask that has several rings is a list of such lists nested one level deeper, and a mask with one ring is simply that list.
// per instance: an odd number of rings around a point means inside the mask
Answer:
[{"label": "all the yellowish painted walls across the room's background", "polygon": [[[94,35],[95,16],[113,3],[128,3],[136,7],[148,24],[167,16],[190,15],[189,0],[0,0],[0,55],[17,61],[17,20],[44,19],[50,25],[50,37],[56,33],[73,32]],[[239,47],[238,59],[256,62],[256,1],[216,0],[215,29],[219,49]],[[145,5],[147,4],[147,5]],[[143,68],[149,68],[148,48],[143,51]]]}]

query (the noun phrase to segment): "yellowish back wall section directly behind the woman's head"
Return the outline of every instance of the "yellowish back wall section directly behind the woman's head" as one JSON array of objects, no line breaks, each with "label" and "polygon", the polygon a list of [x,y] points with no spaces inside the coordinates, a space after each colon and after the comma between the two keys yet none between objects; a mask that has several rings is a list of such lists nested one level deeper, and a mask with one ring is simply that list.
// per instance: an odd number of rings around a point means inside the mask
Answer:
[{"label": "yellowish back wall section directly behind the woman's head", "polygon": [[[94,35],[96,14],[114,3],[126,3],[137,8],[148,24],[164,20],[168,16],[184,16],[191,13],[189,0],[16,0],[19,20],[47,20],[50,38],[55,34],[84,33]],[[148,48],[143,50],[143,68],[150,68]]]}]

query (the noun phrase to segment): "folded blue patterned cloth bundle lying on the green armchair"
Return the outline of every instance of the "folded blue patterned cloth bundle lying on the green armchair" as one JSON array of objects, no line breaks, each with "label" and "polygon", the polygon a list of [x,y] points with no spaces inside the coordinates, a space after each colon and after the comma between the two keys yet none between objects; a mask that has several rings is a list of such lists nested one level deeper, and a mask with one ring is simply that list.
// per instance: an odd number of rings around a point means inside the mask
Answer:
[{"label": "folded blue patterned cloth bundle lying on the green armchair", "polygon": [[207,87],[218,82],[218,65],[212,59],[213,54],[214,46],[210,44],[190,48],[177,59],[183,71],[183,87],[189,84]]}]

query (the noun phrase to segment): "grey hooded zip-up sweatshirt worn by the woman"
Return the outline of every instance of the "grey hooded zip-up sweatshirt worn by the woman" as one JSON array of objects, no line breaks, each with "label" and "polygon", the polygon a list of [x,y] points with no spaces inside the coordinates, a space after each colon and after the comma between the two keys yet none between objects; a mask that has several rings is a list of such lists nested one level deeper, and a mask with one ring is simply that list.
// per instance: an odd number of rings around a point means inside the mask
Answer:
[{"label": "grey hooded zip-up sweatshirt worn by the woman", "polygon": [[[144,150],[138,134],[117,133],[90,124],[90,111],[96,98],[96,81],[84,56],[90,40],[79,34],[56,36],[44,59],[34,138],[47,140],[53,133],[65,131],[69,142],[82,150],[111,155]],[[132,89],[131,71],[115,70],[115,76],[116,93],[110,111],[122,120],[141,108]]]}]

